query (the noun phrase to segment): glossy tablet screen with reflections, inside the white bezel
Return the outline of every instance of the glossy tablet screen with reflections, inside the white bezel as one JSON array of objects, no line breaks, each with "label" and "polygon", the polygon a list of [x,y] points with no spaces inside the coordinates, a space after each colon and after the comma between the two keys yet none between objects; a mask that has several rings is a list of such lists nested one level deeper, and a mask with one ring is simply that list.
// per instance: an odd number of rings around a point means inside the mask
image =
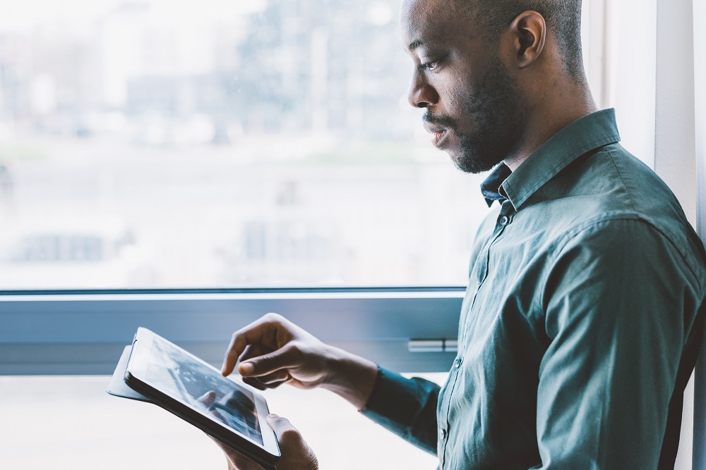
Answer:
[{"label": "glossy tablet screen with reflections, inside the white bezel", "polygon": [[253,395],[162,338],[152,344],[147,381],[263,445]]}]

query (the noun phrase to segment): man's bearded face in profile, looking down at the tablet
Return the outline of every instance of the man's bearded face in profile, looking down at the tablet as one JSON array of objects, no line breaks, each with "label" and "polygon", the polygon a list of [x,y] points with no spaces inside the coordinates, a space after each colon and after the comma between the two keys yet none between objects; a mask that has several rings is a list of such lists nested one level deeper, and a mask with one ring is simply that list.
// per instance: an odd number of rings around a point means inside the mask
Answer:
[{"label": "man's bearded face in profile, looking down at the tablet", "polygon": [[402,41],[414,61],[409,103],[432,142],[467,173],[508,157],[522,134],[515,82],[455,1],[405,0]]}]

